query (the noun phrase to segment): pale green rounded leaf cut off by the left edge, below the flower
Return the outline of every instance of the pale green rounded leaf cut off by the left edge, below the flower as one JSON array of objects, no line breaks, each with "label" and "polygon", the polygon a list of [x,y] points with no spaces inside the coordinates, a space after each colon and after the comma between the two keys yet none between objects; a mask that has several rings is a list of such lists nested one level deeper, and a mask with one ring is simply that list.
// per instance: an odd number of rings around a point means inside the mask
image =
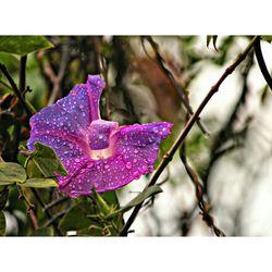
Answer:
[{"label": "pale green rounded leaf cut off by the left edge, below the flower", "polygon": [[22,165],[14,162],[0,163],[0,185],[24,183],[26,173]]}]

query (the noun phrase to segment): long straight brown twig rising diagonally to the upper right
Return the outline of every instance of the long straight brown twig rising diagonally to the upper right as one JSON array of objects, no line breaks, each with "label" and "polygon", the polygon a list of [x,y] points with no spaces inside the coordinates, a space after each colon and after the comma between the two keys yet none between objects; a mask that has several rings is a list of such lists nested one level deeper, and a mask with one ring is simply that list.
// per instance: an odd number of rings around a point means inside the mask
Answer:
[{"label": "long straight brown twig rising diagonally to the upper right", "polygon": [[[173,144],[173,146],[170,148],[170,150],[166,152],[166,154],[161,160],[159,166],[153,172],[153,174],[152,174],[149,183],[146,185],[145,189],[148,188],[148,187],[150,187],[150,186],[152,186],[153,184],[156,184],[157,180],[159,178],[159,176],[161,175],[161,173],[163,172],[163,170],[165,169],[165,166],[170,163],[170,161],[172,160],[174,153],[176,152],[176,150],[178,149],[178,147],[182,145],[182,143],[185,139],[185,137],[190,132],[193,125],[197,121],[198,116],[202,112],[202,110],[206,107],[206,104],[210,101],[210,99],[212,98],[212,96],[219,90],[221,84],[225,81],[225,78],[228,75],[231,75],[234,72],[234,70],[245,60],[245,58],[247,57],[247,54],[249,53],[249,51],[251,50],[251,48],[255,46],[255,42],[256,42],[257,39],[258,39],[258,36],[255,36],[250,40],[250,42],[248,44],[248,46],[246,47],[246,49],[240,54],[237,55],[237,58],[235,59],[235,61],[225,70],[225,72],[219,78],[219,81],[215,83],[215,85],[213,85],[211,87],[210,91],[207,94],[207,96],[205,97],[205,99],[202,100],[202,102],[199,104],[199,107],[197,108],[197,110],[195,111],[195,113],[190,116],[189,121],[186,123],[184,129],[181,132],[180,136],[177,137],[177,139],[175,140],[175,143]],[[137,205],[134,208],[131,217],[128,218],[128,220],[127,220],[124,228],[121,232],[121,236],[127,236],[127,232],[128,232],[131,225],[133,224],[134,220],[136,219],[136,217],[138,214],[138,211],[140,210],[140,208],[143,206],[143,202],[139,203],[139,205]]]}]

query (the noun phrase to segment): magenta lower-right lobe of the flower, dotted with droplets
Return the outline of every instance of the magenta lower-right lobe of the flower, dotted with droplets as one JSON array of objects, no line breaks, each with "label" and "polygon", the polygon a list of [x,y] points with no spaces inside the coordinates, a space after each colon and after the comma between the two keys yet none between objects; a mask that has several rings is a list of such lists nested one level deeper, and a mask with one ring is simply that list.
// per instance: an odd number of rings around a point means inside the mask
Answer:
[{"label": "magenta lower-right lobe of the flower, dotted with droplets", "polygon": [[121,127],[113,136],[113,156],[90,160],[69,182],[63,182],[60,189],[71,197],[85,196],[90,195],[92,186],[97,191],[118,189],[140,175],[151,173],[159,144],[170,134],[171,126],[160,122]]}]

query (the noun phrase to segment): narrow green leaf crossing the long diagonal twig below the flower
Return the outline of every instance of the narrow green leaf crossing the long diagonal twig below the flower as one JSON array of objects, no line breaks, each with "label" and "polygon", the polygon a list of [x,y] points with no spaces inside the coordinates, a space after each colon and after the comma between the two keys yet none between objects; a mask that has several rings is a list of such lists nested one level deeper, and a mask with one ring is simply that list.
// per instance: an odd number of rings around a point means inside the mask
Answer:
[{"label": "narrow green leaf crossing the long diagonal twig below the flower", "polygon": [[134,208],[135,206],[139,205],[140,202],[143,202],[147,198],[154,196],[159,193],[162,193],[162,189],[160,186],[158,186],[158,185],[150,186],[147,189],[145,189],[143,193],[140,193],[137,197],[135,197],[132,201],[129,201],[127,205],[125,205],[121,209],[110,213],[107,218],[108,219],[114,218],[114,217],[119,215],[120,213],[124,213],[124,212],[131,210],[132,208]]}]

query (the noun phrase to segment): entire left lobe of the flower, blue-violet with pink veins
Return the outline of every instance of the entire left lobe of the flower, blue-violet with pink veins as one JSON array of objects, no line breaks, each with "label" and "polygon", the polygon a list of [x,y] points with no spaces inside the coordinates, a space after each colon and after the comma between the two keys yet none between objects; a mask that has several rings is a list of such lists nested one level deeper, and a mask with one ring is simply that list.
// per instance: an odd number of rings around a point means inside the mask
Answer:
[{"label": "entire left lobe of the flower, blue-violet with pink veins", "polygon": [[69,96],[36,113],[30,119],[28,149],[34,150],[39,141],[57,152],[70,174],[81,169],[90,156],[88,127],[99,116],[103,87],[99,76],[89,75],[86,84],[76,85]]}]

